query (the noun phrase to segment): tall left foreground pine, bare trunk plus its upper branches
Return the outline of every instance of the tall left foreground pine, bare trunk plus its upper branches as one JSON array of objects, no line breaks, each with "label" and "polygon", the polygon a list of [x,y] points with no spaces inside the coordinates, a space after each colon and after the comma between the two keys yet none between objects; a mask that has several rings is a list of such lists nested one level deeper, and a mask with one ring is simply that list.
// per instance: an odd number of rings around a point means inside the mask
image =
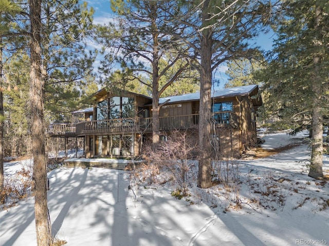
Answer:
[{"label": "tall left foreground pine, bare trunk plus its upper branches", "polygon": [[[3,3],[7,1],[3,0]],[[17,1],[16,4],[20,11],[12,15],[6,12],[6,16],[1,19],[6,20],[6,28],[0,31],[0,38],[2,44],[11,47],[7,48],[8,53],[29,49],[36,235],[38,245],[49,245],[51,235],[46,190],[44,92],[52,93],[53,97],[48,98],[54,98],[54,104],[63,98],[60,92],[70,98],[72,94],[80,96],[81,81],[90,74],[92,67],[93,55],[84,54],[83,41],[90,34],[93,11],[89,11],[85,3],[80,6],[78,1],[61,3],[31,0],[28,3]],[[19,41],[29,40],[30,45],[27,42],[10,42],[11,37]],[[70,83],[77,83],[78,86]],[[55,89],[51,91],[49,88]],[[53,91],[57,91],[57,94]]]}]

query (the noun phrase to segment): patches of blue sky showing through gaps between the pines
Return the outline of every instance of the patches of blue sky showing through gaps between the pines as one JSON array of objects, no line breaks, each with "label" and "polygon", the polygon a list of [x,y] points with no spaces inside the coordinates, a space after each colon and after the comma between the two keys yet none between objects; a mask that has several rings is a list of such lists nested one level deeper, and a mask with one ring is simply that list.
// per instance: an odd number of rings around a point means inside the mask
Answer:
[{"label": "patches of blue sky showing through gaps between the pines", "polygon": [[[111,21],[114,17],[114,13],[111,10],[110,0],[88,0],[88,6],[93,7],[95,10],[94,14],[94,23],[95,24],[105,24]],[[273,32],[269,32],[267,34],[261,34],[256,40],[252,41],[258,46],[260,46],[263,50],[268,51],[272,48],[272,39]],[[95,47],[95,46],[94,46]],[[96,48],[96,47],[95,47]],[[95,66],[99,65],[99,60],[96,61]],[[227,66],[223,65],[217,68],[217,71],[214,73],[214,79],[220,81],[219,86],[215,86],[218,88],[222,88],[226,83],[228,76],[225,74],[227,70]]]}]

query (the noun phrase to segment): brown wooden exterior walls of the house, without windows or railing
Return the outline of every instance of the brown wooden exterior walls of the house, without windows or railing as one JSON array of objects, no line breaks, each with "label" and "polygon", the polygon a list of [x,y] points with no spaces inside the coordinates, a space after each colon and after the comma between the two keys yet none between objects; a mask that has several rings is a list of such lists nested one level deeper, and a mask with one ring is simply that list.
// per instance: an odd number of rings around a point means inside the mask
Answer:
[{"label": "brown wooden exterior walls of the house, without windows or railing", "polygon": [[[90,115],[93,114],[93,120],[96,120],[96,112],[97,112],[97,103],[100,101],[107,99],[108,97],[112,96],[125,96],[125,97],[134,97],[134,106],[136,109],[136,112],[138,112],[138,107],[147,108],[149,109],[149,116],[152,117],[152,99],[148,97],[144,97],[135,93],[130,92],[122,92],[119,94],[111,94],[107,93],[106,91],[102,90],[95,99],[94,104],[94,114],[90,112],[86,112],[85,114],[85,120],[90,120]],[[231,157],[239,157],[242,154],[242,151],[252,145],[255,144],[257,140],[256,135],[256,125],[255,121],[252,120],[251,112],[253,109],[252,101],[249,96],[234,96],[234,97],[225,97],[225,98],[215,98],[213,100],[213,103],[221,103],[221,102],[229,102],[232,101],[233,103],[233,115],[235,118],[239,117],[239,120],[236,120],[235,122],[238,122],[238,124],[235,124],[234,126],[224,126],[226,124],[221,124],[222,126],[217,125],[216,126],[216,135],[220,139],[220,149],[222,153],[225,153],[225,155],[231,156]],[[144,106],[149,105],[149,106]],[[199,113],[199,101],[182,101],[179,103],[173,103],[173,104],[165,104],[160,108],[160,117],[162,117],[162,123],[168,124],[168,126],[173,125],[173,128],[165,129],[166,132],[163,132],[165,135],[170,135],[170,129],[174,129],[175,126],[176,129],[182,129],[184,127],[184,123],[189,123],[189,126],[192,126],[194,130],[191,131],[191,134],[195,135],[195,141],[197,141],[197,117],[194,117],[192,115]],[[174,117],[172,117],[174,116]],[[177,117],[175,117],[177,116]],[[184,116],[184,117],[181,117]],[[185,117],[188,116],[188,117]],[[191,117],[190,117],[191,116]],[[196,115],[197,116],[197,115]],[[83,116],[82,116],[83,117]],[[166,118],[168,117],[168,118]],[[167,122],[167,121],[168,122]],[[180,122],[181,121],[181,122]],[[231,121],[230,121],[231,122]],[[175,124],[173,124],[175,123]],[[78,126],[78,125],[77,125]],[[82,126],[82,125],[81,125]],[[166,125],[167,126],[167,125]],[[77,127],[78,128],[78,127]],[[106,130],[107,131],[107,130]],[[97,155],[104,155],[104,156],[113,156],[112,151],[112,143],[111,143],[111,133],[115,135],[114,132],[109,130],[108,132],[90,132],[85,135],[85,156],[87,158],[93,158]],[[121,131],[117,132],[117,135],[119,135]],[[148,132],[144,133],[144,136],[150,133],[150,129],[148,129]],[[102,137],[102,146],[99,147],[99,136],[105,136]],[[122,134],[129,135],[129,131],[122,132]],[[131,132],[133,134],[133,132]],[[140,155],[140,150],[142,146],[142,141],[139,140],[140,138],[143,139],[143,137],[140,137],[137,132],[135,134],[135,141],[134,141],[134,152],[135,156]],[[90,145],[90,139],[93,139],[92,144]],[[99,149],[98,149],[99,147]],[[102,150],[101,154],[98,153],[98,150]],[[121,148],[121,146],[120,146]],[[118,156],[116,156],[118,157]]]}]

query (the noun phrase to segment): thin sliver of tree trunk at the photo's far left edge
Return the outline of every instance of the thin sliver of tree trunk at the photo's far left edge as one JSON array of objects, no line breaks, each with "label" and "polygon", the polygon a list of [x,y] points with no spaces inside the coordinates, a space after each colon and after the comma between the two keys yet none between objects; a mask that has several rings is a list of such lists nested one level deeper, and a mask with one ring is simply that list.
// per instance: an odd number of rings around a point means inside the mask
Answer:
[{"label": "thin sliver of tree trunk at the photo's far left edge", "polygon": [[[0,82],[2,81],[2,77],[3,62],[2,47],[0,47]],[[2,93],[2,88],[0,88],[0,204],[3,204],[5,202],[4,179],[4,95]]]}]

